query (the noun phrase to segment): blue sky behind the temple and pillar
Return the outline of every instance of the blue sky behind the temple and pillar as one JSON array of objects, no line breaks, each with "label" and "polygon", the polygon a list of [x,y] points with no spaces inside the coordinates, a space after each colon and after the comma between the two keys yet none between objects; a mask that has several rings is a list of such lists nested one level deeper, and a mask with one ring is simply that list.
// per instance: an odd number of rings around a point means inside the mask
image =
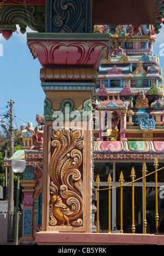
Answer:
[{"label": "blue sky behind the temple and pillar", "polygon": [[[19,32],[19,26],[17,31]],[[30,29],[27,31],[33,32]],[[164,49],[164,26],[156,37],[154,53],[159,55],[162,48]],[[160,66],[164,70],[164,56],[160,56]],[[33,60],[28,49],[26,34],[13,33],[8,41],[0,34],[0,118],[8,110],[3,107],[13,98],[14,114],[17,117],[14,119],[14,128],[24,123],[23,121],[32,121],[37,125],[36,114],[44,113],[45,94],[40,84],[40,68],[38,59]]]}]

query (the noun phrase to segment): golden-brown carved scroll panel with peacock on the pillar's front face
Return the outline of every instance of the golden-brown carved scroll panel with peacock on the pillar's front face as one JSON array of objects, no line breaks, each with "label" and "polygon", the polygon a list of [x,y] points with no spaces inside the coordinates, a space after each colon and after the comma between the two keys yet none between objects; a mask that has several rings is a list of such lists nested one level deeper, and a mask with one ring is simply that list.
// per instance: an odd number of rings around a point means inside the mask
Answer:
[{"label": "golden-brown carved scroll panel with peacock on the pillar's front face", "polygon": [[51,226],[83,225],[83,130],[51,132]]}]

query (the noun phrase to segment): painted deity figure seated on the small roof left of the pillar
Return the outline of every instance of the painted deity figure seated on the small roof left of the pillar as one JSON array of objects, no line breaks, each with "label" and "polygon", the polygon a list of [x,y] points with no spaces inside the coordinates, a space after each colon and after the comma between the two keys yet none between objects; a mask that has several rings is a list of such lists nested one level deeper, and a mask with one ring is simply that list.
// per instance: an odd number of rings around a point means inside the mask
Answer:
[{"label": "painted deity figure seated on the small roof left of the pillar", "polygon": [[33,146],[30,148],[30,150],[43,150],[43,133],[44,133],[44,122],[45,119],[43,115],[36,115],[36,121],[38,125],[34,128],[34,130],[31,128],[31,125],[29,124],[26,127],[26,130],[29,131],[32,135],[32,141]]}]

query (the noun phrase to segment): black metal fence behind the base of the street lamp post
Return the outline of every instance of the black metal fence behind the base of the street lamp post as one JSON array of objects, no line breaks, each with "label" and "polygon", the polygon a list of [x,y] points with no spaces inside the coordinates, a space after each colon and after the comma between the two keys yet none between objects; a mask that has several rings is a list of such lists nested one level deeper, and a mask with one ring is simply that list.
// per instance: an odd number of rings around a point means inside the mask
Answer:
[{"label": "black metal fence behind the base of the street lamp post", "polygon": [[[19,213],[19,234],[18,238],[22,237],[23,214]],[[15,213],[8,214],[8,242],[15,240]]]}]

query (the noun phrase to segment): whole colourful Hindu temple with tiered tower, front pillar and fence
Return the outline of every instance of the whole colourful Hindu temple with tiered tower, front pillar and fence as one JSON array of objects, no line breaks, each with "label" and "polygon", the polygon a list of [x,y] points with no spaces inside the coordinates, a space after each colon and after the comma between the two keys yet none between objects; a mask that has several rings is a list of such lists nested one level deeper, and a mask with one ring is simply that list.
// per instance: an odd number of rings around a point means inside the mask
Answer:
[{"label": "whole colourful Hindu temple with tiered tower, front pillar and fence", "polygon": [[153,49],[163,23],[164,1],[0,1],[6,39],[16,25],[37,31],[27,46],[45,92],[38,126],[28,120],[22,131],[24,149],[4,159],[26,159],[21,244],[163,243],[155,235],[164,228],[162,171],[158,183],[142,179],[163,167],[163,78]]}]

